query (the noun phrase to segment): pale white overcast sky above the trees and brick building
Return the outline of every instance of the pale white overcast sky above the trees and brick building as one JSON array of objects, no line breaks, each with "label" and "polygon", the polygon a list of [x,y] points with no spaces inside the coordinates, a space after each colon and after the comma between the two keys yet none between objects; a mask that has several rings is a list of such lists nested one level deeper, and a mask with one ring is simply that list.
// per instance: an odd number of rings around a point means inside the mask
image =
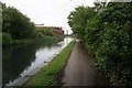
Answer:
[{"label": "pale white overcast sky above the trees and brick building", "polygon": [[28,15],[35,24],[44,23],[45,26],[62,26],[63,30],[70,28],[67,24],[67,16],[78,6],[92,7],[95,0],[1,0],[20,10]]}]

